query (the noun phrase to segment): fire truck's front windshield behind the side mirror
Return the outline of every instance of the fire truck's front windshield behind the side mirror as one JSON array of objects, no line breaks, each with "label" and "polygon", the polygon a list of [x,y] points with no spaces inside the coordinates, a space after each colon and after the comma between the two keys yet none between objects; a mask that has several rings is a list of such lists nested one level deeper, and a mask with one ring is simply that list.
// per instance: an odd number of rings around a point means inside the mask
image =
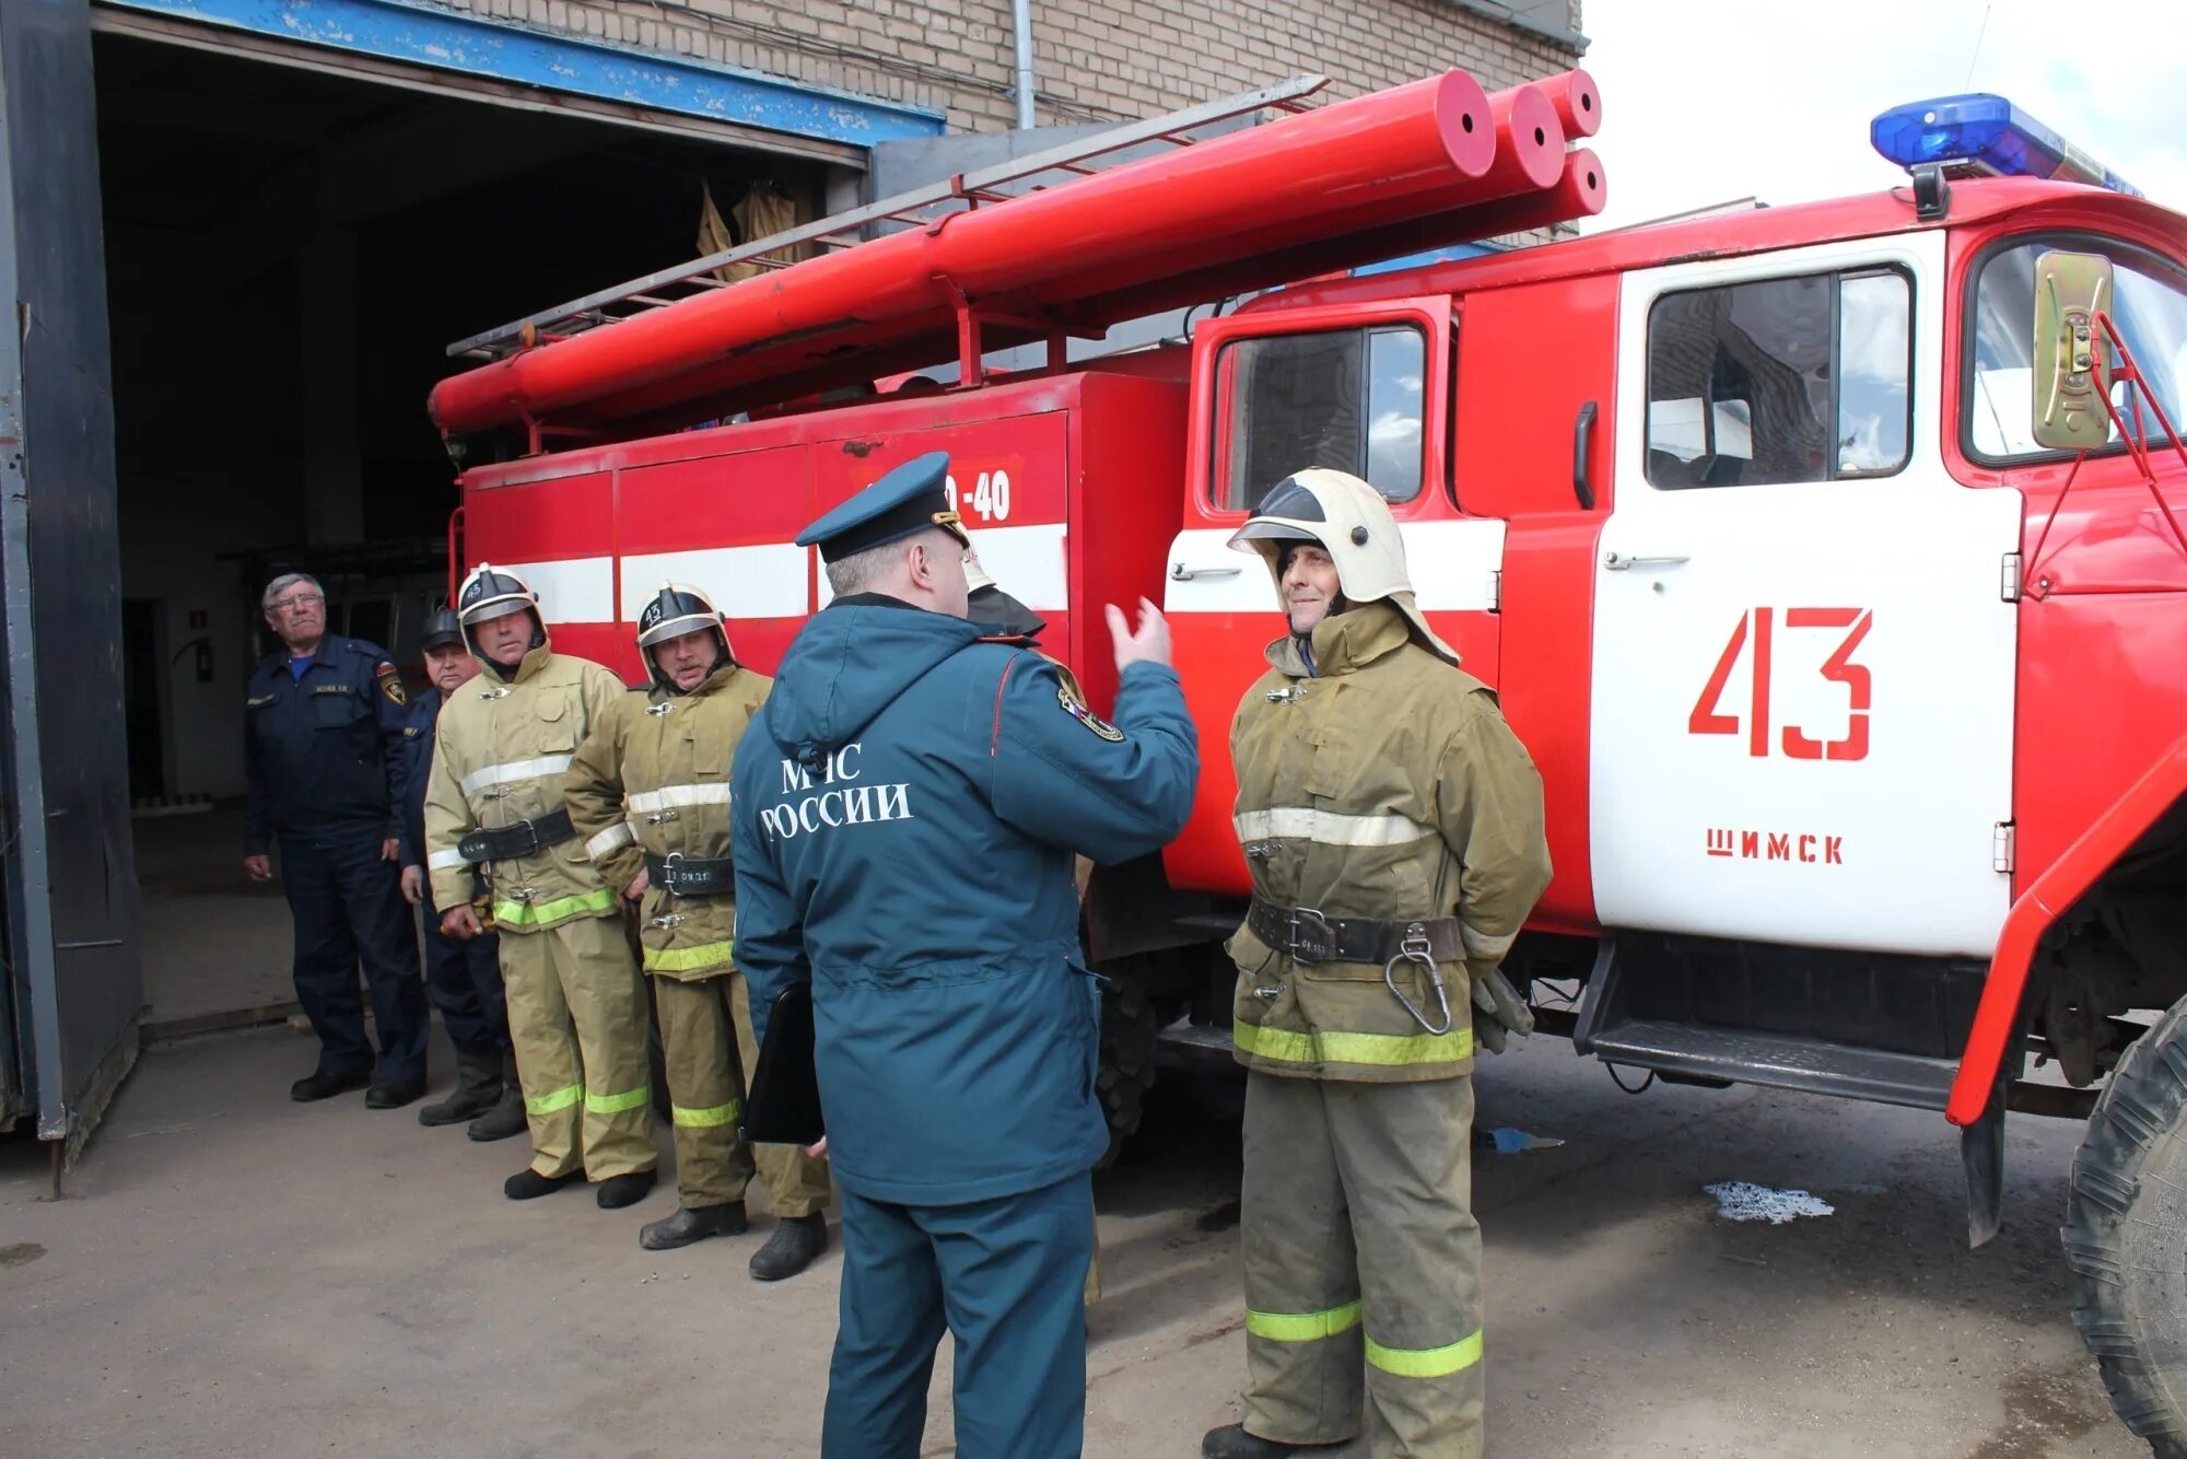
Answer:
[{"label": "fire truck's front windshield behind the side mirror", "polygon": [[[1975,276],[1975,359],[1964,392],[1962,440],[1984,462],[2054,455],[2034,437],[2036,258],[2049,249],[2104,254],[2117,289],[2113,324],[2135,352],[2135,363],[2165,416],[2180,427],[2187,405],[2187,278],[2141,249],[2102,238],[2040,238],[2014,243],[1981,260]],[[2126,405],[2124,392],[2113,396]],[[2145,418],[2154,440],[2163,427]],[[2187,427],[2183,427],[2187,429]],[[2117,427],[2110,433],[2119,437]]]}]

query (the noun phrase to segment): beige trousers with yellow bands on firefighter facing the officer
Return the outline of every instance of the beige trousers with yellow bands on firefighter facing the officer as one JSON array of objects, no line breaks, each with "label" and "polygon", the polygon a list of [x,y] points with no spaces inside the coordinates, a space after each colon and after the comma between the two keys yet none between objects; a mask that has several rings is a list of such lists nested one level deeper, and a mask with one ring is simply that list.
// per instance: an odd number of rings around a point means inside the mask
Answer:
[{"label": "beige trousers with yellow bands on firefighter facing the officer", "polygon": [[1373,1459],[1481,1455],[1474,1085],[1247,1074],[1244,1426]]}]

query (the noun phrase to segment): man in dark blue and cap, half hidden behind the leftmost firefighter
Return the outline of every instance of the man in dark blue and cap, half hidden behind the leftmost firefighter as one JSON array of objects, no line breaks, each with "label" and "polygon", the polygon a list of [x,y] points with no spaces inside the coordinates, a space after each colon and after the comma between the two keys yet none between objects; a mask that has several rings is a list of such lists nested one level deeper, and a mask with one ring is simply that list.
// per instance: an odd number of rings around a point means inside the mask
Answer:
[{"label": "man in dark blue and cap, half hidden behind the leftmost firefighter", "polygon": [[525,1094],[510,1052],[510,1006],[501,993],[501,938],[457,943],[440,930],[433,882],[424,875],[424,781],[433,761],[433,724],[451,693],[477,678],[479,661],[464,645],[453,608],[435,608],[418,637],[433,691],[411,704],[402,763],[402,899],[424,906],[424,987],[455,1046],[455,1089],[418,1111],[418,1124],[461,1124],[472,1140],[507,1140],[525,1129]]}]

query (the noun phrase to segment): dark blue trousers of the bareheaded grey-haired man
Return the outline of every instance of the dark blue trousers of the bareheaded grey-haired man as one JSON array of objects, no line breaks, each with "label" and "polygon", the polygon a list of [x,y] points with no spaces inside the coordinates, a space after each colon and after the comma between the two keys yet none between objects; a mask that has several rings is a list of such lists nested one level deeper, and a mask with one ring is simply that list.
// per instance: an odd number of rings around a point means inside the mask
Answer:
[{"label": "dark blue trousers of the bareheaded grey-haired man", "polygon": [[295,919],[295,1000],[319,1035],[319,1072],[372,1074],[356,965],[372,984],[378,1078],[424,1078],[433,1030],[402,877],[376,825],[280,833],[280,879]]}]

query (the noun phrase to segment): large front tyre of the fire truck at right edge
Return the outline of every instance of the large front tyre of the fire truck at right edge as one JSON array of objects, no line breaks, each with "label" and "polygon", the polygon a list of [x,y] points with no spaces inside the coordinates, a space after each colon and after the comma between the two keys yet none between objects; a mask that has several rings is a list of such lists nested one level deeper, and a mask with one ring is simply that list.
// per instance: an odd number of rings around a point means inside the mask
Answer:
[{"label": "large front tyre of the fire truck at right edge", "polygon": [[2159,1459],[2187,1459],[2187,997],[2113,1070],[2065,1221],[2073,1326],[2110,1407]]}]

